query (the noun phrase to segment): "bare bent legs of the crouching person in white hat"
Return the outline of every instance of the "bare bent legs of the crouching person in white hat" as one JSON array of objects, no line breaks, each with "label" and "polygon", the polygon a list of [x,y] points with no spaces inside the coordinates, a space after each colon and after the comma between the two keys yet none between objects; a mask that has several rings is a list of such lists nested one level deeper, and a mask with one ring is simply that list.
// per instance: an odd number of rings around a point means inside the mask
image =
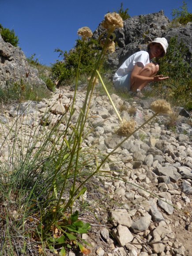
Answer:
[{"label": "bare bent legs of the crouching person in white hat", "polygon": [[[144,68],[141,69],[139,75],[146,76],[146,77],[154,77],[159,70],[159,66],[157,63],[148,63],[145,65]],[[149,82],[137,82],[130,79],[131,90],[136,91],[137,89],[142,90]]]}]

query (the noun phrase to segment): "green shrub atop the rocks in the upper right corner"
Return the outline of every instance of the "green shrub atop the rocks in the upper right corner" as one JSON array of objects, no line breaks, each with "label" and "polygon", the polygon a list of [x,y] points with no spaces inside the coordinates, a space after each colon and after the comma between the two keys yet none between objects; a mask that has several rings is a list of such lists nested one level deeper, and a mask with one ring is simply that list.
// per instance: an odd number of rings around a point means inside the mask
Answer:
[{"label": "green shrub atop the rocks in the upper right corner", "polygon": [[183,1],[183,5],[180,9],[173,9],[171,12],[173,16],[173,22],[179,22],[182,25],[192,22],[192,13],[188,12],[187,3]]}]

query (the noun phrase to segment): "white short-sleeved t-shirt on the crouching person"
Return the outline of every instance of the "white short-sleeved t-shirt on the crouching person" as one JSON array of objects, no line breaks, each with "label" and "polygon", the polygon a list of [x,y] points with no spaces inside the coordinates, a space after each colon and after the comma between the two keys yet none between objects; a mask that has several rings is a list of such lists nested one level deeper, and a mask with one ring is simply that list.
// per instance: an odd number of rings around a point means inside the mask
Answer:
[{"label": "white short-sleeved t-shirt on the crouching person", "polygon": [[131,74],[134,68],[134,65],[137,62],[141,62],[143,66],[145,66],[147,63],[150,63],[149,53],[147,53],[146,51],[140,51],[128,57],[128,59],[124,61],[124,63],[120,66],[120,68],[115,73],[113,77],[113,81],[115,81],[116,79],[118,80],[119,77],[127,75],[128,73]]}]

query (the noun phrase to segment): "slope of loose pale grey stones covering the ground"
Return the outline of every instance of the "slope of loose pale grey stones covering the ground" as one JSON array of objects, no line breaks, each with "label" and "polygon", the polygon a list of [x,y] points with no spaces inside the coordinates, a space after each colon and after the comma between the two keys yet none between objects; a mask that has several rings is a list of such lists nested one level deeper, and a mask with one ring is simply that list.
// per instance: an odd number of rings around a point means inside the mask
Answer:
[{"label": "slope of loose pale grey stones covering the ground", "polygon": [[[62,89],[57,90],[50,100],[43,99],[38,103],[28,101],[22,103],[19,109],[5,109],[0,116],[0,140],[4,141],[8,127],[16,120],[18,111],[21,114],[17,122],[18,132],[26,136],[23,141],[31,139],[31,135],[35,136],[34,129],[40,131],[45,117],[45,128],[51,129],[65,112],[64,105],[68,105],[72,97],[73,92]],[[85,91],[79,90],[72,117],[73,124],[78,118],[84,97]],[[149,100],[126,102],[116,94],[111,97],[119,111],[124,106],[120,115],[125,120],[134,118],[137,125],[140,125],[152,115]],[[135,111],[130,111],[132,107]],[[181,109],[178,111],[182,114]],[[63,132],[66,124],[64,118],[61,120],[57,128],[58,134]],[[167,116],[156,117],[110,156],[102,167],[109,171],[109,177],[94,177],[94,184],[100,188],[98,191],[95,192],[94,188],[93,192],[91,183],[87,184],[83,202],[89,210],[84,211],[81,218],[91,224],[90,232],[83,234],[83,239],[92,245],[90,255],[192,255],[192,221],[190,215],[184,214],[184,211],[192,211],[192,142],[189,139],[192,128],[188,124],[189,117],[179,115],[178,120],[182,122],[178,122],[176,132],[172,132],[166,129],[167,120]],[[93,128],[93,131],[82,146],[95,153],[109,153],[124,139],[115,133],[119,120],[106,96],[94,94],[86,127],[88,130]],[[13,126],[12,129],[14,128]],[[42,134],[42,139],[43,136]],[[13,137],[10,134],[9,144],[11,143]],[[14,147],[16,150],[19,145],[15,143]],[[24,144],[23,147],[25,148]],[[1,152],[0,161],[8,161],[6,145]],[[148,192],[155,193],[158,198]],[[79,199],[75,203],[75,209],[79,209],[80,205]],[[69,255],[74,256],[75,253],[70,252]]]}]

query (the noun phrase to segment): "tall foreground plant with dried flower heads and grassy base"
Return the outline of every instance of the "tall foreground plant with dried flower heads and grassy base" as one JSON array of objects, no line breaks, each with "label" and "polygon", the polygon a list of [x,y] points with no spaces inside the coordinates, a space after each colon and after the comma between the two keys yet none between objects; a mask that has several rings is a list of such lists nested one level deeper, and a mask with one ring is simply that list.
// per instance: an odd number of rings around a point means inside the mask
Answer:
[{"label": "tall foreground plant with dried flower heads and grassy base", "polygon": [[[103,33],[105,40],[101,40],[102,51],[90,76],[86,97],[76,124],[73,125],[71,120],[75,113],[74,104],[82,50],[79,53],[73,98],[70,105],[65,108],[64,114],[53,123],[53,127],[51,129],[46,128],[47,120],[53,118],[53,116],[45,114],[40,122],[41,128],[35,125],[31,127],[31,140],[27,142],[25,133],[20,135],[23,138],[18,138],[18,124],[20,119],[23,118],[22,114],[18,114],[15,124],[5,136],[2,145],[9,143],[8,138],[14,133],[14,136],[11,137],[14,139],[13,144],[8,146],[8,158],[11,159],[11,164],[7,165],[0,162],[2,170],[0,191],[4,203],[10,202],[10,198],[14,198],[14,207],[16,207],[17,214],[10,220],[8,217],[8,203],[4,204],[5,212],[7,212],[4,217],[4,221],[7,223],[4,226],[7,226],[7,229],[2,242],[4,252],[9,250],[14,254],[14,237],[19,236],[22,240],[22,242],[19,242],[19,245],[22,244],[22,248],[19,250],[23,254],[27,254],[28,250],[31,249],[31,240],[33,241],[32,244],[37,243],[38,253],[42,254],[49,248],[51,252],[59,252],[60,255],[65,255],[66,249],[74,247],[79,248],[84,254],[89,254],[90,249],[84,246],[84,244],[88,245],[87,242],[81,239],[79,235],[87,233],[91,226],[79,219],[77,210],[74,212],[75,201],[86,192],[87,183],[92,177],[107,175],[102,170],[102,166],[126,139],[158,114],[172,112],[168,102],[157,100],[151,104],[151,110],[154,111],[153,116],[140,126],[136,124],[135,120],[122,120],[120,118],[102,81],[99,70],[106,51],[113,52],[115,50],[113,31],[115,28],[123,27],[123,20],[115,12],[107,13],[102,21],[102,26],[105,28],[105,33]],[[85,42],[92,36],[92,32],[88,27],[83,27],[78,30],[78,35],[81,36],[82,42]],[[120,120],[120,127],[116,133],[119,136],[124,136],[121,143],[100,159],[94,151],[89,152],[82,146],[84,136],[87,134],[87,118],[97,79],[100,79]],[[55,104],[60,104],[61,98],[62,95],[60,94],[58,102]],[[65,120],[65,128],[62,132],[58,132],[57,128],[63,120]],[[22,141],[25,142],[25,145],[21,143]],[[41,146],[37,147],[39,142],[41,142]],[[20,143],[19,154],[15,152],[16,143]],[[24,151],[22,145],[27,150]],[[87,166],[91,168],[87,168]],[[156,196],[153,193],[151,195]],[[10,221],[14,228],[8,229]],[[15,233],[17,236],[15,236]]]}]

